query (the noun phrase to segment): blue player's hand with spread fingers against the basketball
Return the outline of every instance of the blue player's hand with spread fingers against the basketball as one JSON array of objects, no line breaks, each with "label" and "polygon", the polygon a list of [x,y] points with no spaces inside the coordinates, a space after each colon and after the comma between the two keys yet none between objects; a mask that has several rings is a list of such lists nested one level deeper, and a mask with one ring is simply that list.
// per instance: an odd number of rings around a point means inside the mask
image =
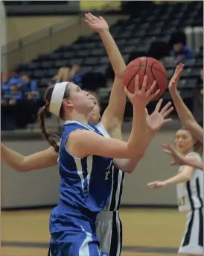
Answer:
[{"label": "blue player's hand with spread fingers against the basketball", "polygon": [[139,89],[139,76],[136,75],[135,81],[135,93],[130,93],[127,90],[127,87],[124,87],[124,92],[126,93],[128,99],[135,107],[146,107],[147,104],[159,95],[160,89],[154,92],[154,88],[156,87],[156,81],[153,82],[152,86],[146,91],[147,87],[147,75],[144,75],[143,84],[141,86],[141,90]]}]

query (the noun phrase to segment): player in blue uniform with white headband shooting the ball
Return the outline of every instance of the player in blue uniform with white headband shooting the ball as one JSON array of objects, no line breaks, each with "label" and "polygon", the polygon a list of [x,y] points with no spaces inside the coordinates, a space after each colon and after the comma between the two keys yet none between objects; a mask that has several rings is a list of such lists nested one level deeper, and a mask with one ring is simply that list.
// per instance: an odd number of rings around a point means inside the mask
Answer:
[{"label": "player in blue uniform with white headband shooting the ball", "polygon": [[[89,124],[87,116],[94,108],[89,93],[71,82],[48,87],[46,104],[39,111],[39,125],[45,139],[50,142],[45,125],[42,125],[46,113],[60,116],[65,123],[58,161],[60,203],[50,217],[51,255],[106,255],[98,249],[96,216],[109,200],[112,163],[120,169],[125,166],[125,159],[136,157],[144,149],[145,107],[159,93],[159,90],[153,93],[155,85],[156,82],[146,91],[147,77],[144,77],[140,90],[136,76],[135,93],[125,89],[133,104],[133,128],[127,143],[103,137],[98,128]],[[57,143],[52,146],[57,147]]]}]

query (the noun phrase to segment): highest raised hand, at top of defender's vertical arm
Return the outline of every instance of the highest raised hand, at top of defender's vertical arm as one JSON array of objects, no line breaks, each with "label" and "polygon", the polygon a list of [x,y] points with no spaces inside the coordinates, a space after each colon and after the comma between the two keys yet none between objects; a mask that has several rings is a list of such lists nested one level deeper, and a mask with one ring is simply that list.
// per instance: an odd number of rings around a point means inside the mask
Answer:
[{"label": "highest raised hand, at top of defender's vertical arm", "polygon": [[100,31],[109,31],[109,25],[103,19],[103,17],[94,16],[92,13],[86,13],[85,14],[85,22],[89,25],[94,31],[100,32]]}]

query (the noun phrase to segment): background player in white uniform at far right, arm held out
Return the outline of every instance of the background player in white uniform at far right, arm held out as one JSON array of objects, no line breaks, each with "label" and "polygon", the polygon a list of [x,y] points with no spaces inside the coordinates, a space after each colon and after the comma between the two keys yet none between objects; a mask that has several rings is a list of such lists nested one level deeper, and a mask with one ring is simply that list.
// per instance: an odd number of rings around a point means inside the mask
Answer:
[{"label": "background player in white uniform at far right, arm held out", "polygon": [[[176,150],[186,159],[202,161],[203,145],[197,142],[185,128],[176,132]],[[153,181],[148,187],[156,189],[177,184],[179,211],[187,211],[185,235],[179,248],[181,255],[203,255],[203,170],[192,166],[180,166],[176,176],[166,181]]]}]

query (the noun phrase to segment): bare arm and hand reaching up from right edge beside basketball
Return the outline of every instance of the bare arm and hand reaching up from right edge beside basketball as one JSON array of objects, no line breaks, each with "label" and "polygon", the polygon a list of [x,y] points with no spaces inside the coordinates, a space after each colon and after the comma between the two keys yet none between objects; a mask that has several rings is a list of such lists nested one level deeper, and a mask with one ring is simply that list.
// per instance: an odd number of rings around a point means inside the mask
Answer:
[{"label": "bare arm and hand reaching up from right edge beside basketball", "polygon": [[200,141],[200,143],[203,143],[203,128],[200,127],[200,125],[194,119],[193,114],[190,110],[188,110],[188,107],[183,102],[182,97],[179,96],[178,90],[176,88],[183,68],[184,65],[182,64],[176,66],[176,71],[173,75],[173,78],[170,80],[169,92],[173,99],[173,103],[175,104],[176,111],[179,115],[179,119],[182,122],[182,125],[184,125],[188,131],[191,131],[191,133],[197,140]]}]

